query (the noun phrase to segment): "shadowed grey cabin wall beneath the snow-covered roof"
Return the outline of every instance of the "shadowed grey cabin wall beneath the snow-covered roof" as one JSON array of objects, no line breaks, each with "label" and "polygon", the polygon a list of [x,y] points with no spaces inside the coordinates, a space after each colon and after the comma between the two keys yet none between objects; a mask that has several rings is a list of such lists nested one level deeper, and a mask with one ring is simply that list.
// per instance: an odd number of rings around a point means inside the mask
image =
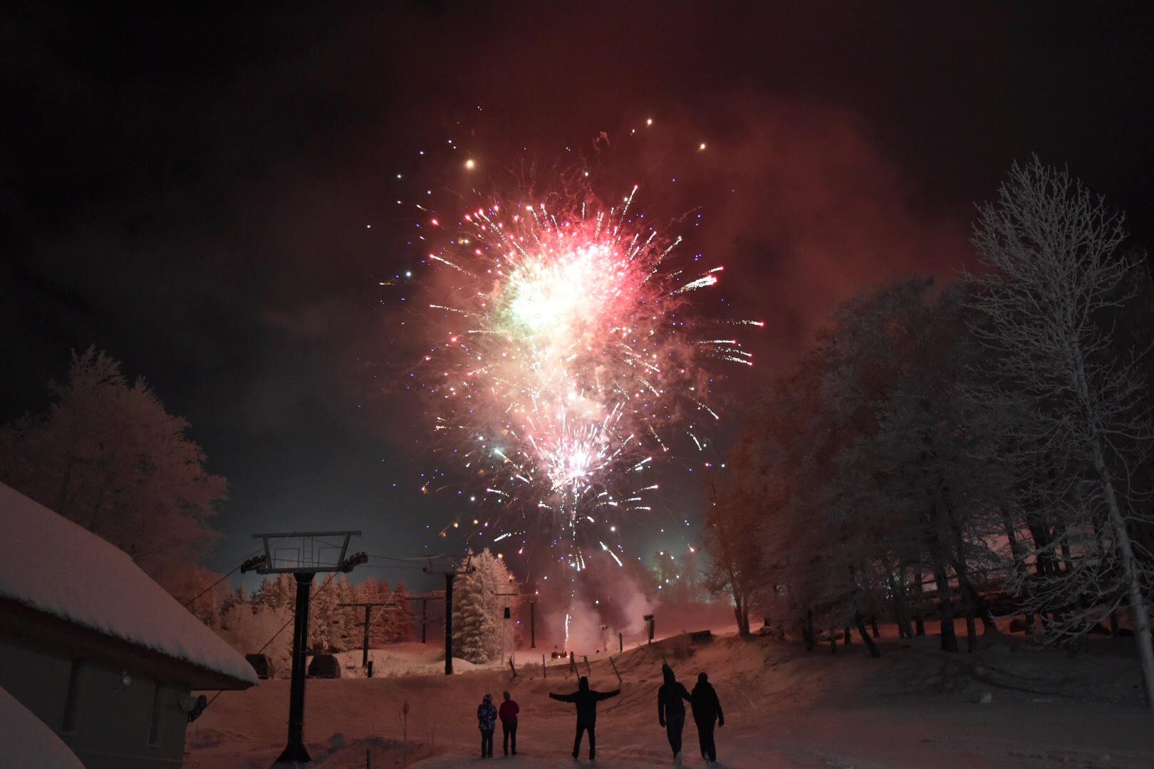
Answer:
[{"label": "shadowed grey cabin wall beneath the snow-covered roof", "polygon": [[158,686],[132,670],[126,686],[123,672],[0,639],[0,687],[60,734],[85,767],[179,767],[188,689]]}]

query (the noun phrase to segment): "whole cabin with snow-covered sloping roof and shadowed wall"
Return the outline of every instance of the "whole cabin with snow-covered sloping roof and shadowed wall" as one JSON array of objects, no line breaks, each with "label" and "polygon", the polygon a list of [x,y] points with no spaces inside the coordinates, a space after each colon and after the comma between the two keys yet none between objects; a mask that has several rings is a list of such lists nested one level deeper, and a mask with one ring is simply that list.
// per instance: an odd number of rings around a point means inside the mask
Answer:
[{"label": "whole cabin with snow-covered sloping roof and shadowed wall", "polygon": [[257,683],[127,553],[2,483],[0,542],[0,691],[88,769],[179,767],[192,692]]}]

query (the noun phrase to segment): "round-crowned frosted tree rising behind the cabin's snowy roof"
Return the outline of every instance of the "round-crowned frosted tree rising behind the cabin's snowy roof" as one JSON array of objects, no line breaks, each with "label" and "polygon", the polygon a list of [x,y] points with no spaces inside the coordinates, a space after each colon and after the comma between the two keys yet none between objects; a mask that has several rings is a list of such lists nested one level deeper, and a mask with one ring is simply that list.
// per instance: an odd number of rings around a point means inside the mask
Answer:
[{"label": "round-crowned frosted tree rising behind the cabin's snowy roof", "polygon": [[132,556],[167,589],[216,538],[225,480],[204,470],[188,422],[90,347],[52,384],[46,414],[0,430],[0,478]]}]

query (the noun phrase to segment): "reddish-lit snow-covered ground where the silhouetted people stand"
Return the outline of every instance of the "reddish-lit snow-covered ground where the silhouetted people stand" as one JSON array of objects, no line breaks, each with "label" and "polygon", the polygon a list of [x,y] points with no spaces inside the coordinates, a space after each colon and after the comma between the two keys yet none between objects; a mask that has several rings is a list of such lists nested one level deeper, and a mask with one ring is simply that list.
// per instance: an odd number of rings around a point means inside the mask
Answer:
[{"label": "reddish-lit snow-covered ground where the silhouetted people stand", "polygon": [[[698,671],[710,673],[726,711],[717,731],[724,768],[1154,767],[1154,717],[1141,707],[1132,640],[1096,639],[1076,657],[1020,636],[983,639],[973,655],[944,655],[936,644],[936,638],[884,639],[881,659],[870,659],[857,640],[835,656],[829,647],[805,654],[793,643],[732,636],[627,649],[614,657],[622,695],[599,710],[597,766],[670,766],[655,713],[664,658],[688,686]],[[436,666],[435,654],[432,647],[397,649],[388,653],[395,658],[379,658],[382,672],[405,672]],[[590,663],[594,688],[617,686],[607,658],[591,656]],[[542,679],[539,656],[517,678],[508,666],[481,666],[451,678],[309,680],[305,734],[325,769],[360,769],[366,752],[375,769],[471,767],[480,761],[477,704],[486,693],[500,700],[509,689],[522,708],[520,755],[501,755],[499,729],[497,766],[571,769],[572,707],[547,694],[574,688],[560,662]],[[222,694],[189,726],[185,766],[268,767],[284,746],[287,695],[286,680]],[[344,746],[334,749],[337,733]],[[703,766],[692,723],[684,745],[684,763]],[[585,751],[579,763],[589,763]]]}]

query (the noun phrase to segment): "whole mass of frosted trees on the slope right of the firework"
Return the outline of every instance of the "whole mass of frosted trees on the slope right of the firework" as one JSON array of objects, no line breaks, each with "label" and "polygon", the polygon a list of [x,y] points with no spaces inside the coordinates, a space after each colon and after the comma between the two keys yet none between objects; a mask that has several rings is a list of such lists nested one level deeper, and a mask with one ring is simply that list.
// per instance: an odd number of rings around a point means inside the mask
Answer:
[{"label": "whole mass of frosted trees on the slope right of the firework", "polygon": [[[809,646],[870,618],[959,649],[999,616],[1048,643],[1132,632],[1154,702],[1145,255],[1069,172],[1014,165],[977,265],[842,302],[750,409],[705,512],[706,585],[739,629]],[[1126,627],[1122,627],[1125,625]]]}]

